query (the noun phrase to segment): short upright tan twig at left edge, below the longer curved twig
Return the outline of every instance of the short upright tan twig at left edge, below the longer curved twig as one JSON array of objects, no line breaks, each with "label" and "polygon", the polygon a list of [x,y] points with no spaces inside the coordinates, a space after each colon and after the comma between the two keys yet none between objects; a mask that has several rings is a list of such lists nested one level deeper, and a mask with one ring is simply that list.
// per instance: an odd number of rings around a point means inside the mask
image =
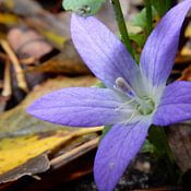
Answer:
[{"label": "short upright tan twig at left edge, below the longer curved twig", "polygon": [[11,96],[12,94],[10,68],[11,68],[10,60],[7,59],[5,67],[4,67],[4,80],[3,80],[3,91],[2,91],[2,96],[5,96],[5,97]]}]

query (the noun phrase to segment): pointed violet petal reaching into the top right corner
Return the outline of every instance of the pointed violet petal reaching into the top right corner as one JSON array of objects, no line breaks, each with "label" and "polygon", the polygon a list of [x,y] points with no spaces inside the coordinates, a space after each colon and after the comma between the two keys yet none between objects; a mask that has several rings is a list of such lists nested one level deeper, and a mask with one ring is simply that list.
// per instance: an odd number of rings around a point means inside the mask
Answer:
[{"label": "pointed violet petal reaching into the top right corner", "polygon": [[166,84],[175,61],[180,29],[190,7],[191,0],[174,7],[147,38],[140,65],[143,75],[153,86]]}]

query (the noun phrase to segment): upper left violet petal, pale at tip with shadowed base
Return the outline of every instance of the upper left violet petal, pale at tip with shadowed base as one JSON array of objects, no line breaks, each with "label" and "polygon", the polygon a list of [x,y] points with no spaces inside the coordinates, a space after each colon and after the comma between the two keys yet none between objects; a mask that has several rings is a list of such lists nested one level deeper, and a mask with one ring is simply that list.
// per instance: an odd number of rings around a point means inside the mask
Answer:
[{"label": "upper left violet petal, pale at tip with shadowed base", "polygon": [[118,77],[135,91],[142,88],[141,72],[124,45],[96,17],[72,14],[71,35],[80,56],[91,71],[112,88]]}]

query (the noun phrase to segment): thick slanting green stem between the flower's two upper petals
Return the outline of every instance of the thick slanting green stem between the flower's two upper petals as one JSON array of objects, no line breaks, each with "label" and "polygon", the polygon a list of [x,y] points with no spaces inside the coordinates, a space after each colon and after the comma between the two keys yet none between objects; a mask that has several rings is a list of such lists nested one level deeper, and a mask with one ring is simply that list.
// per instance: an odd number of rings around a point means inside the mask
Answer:
[{"label": "thick slanting green stem between the flower's two upper petals", "polygon": [[132,55],[132,57],[134,57],[120,2],[119,2],[119,0],[111,0],[111,2],[112,2],[115,15],[116,15],[116,21],[118,23],[119,32],[121,35],[121,39],[122,39],[123,44],[126,45],[127,49],[129,50],[129,52]]}]

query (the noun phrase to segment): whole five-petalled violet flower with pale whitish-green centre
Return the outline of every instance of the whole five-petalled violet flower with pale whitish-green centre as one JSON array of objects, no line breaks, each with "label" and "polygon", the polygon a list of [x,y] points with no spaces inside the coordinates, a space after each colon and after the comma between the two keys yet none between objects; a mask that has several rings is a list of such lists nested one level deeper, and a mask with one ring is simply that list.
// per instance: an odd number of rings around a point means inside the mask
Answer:
[{"label": "whole five-petalled violet flower with pale whitish-green centre", "polygon": [[95,17],[71,19],[72,39],[107,88],[71,87],[36,100],[31,115],[58,124],[112,124],[98,147],[94,175],[99,191],[111,191],[143,144],[148,127],[191,119],[191,83],[166,86],[182,22],[191,0],[172,8],[148,37],[140,67],[123,44]]}]

